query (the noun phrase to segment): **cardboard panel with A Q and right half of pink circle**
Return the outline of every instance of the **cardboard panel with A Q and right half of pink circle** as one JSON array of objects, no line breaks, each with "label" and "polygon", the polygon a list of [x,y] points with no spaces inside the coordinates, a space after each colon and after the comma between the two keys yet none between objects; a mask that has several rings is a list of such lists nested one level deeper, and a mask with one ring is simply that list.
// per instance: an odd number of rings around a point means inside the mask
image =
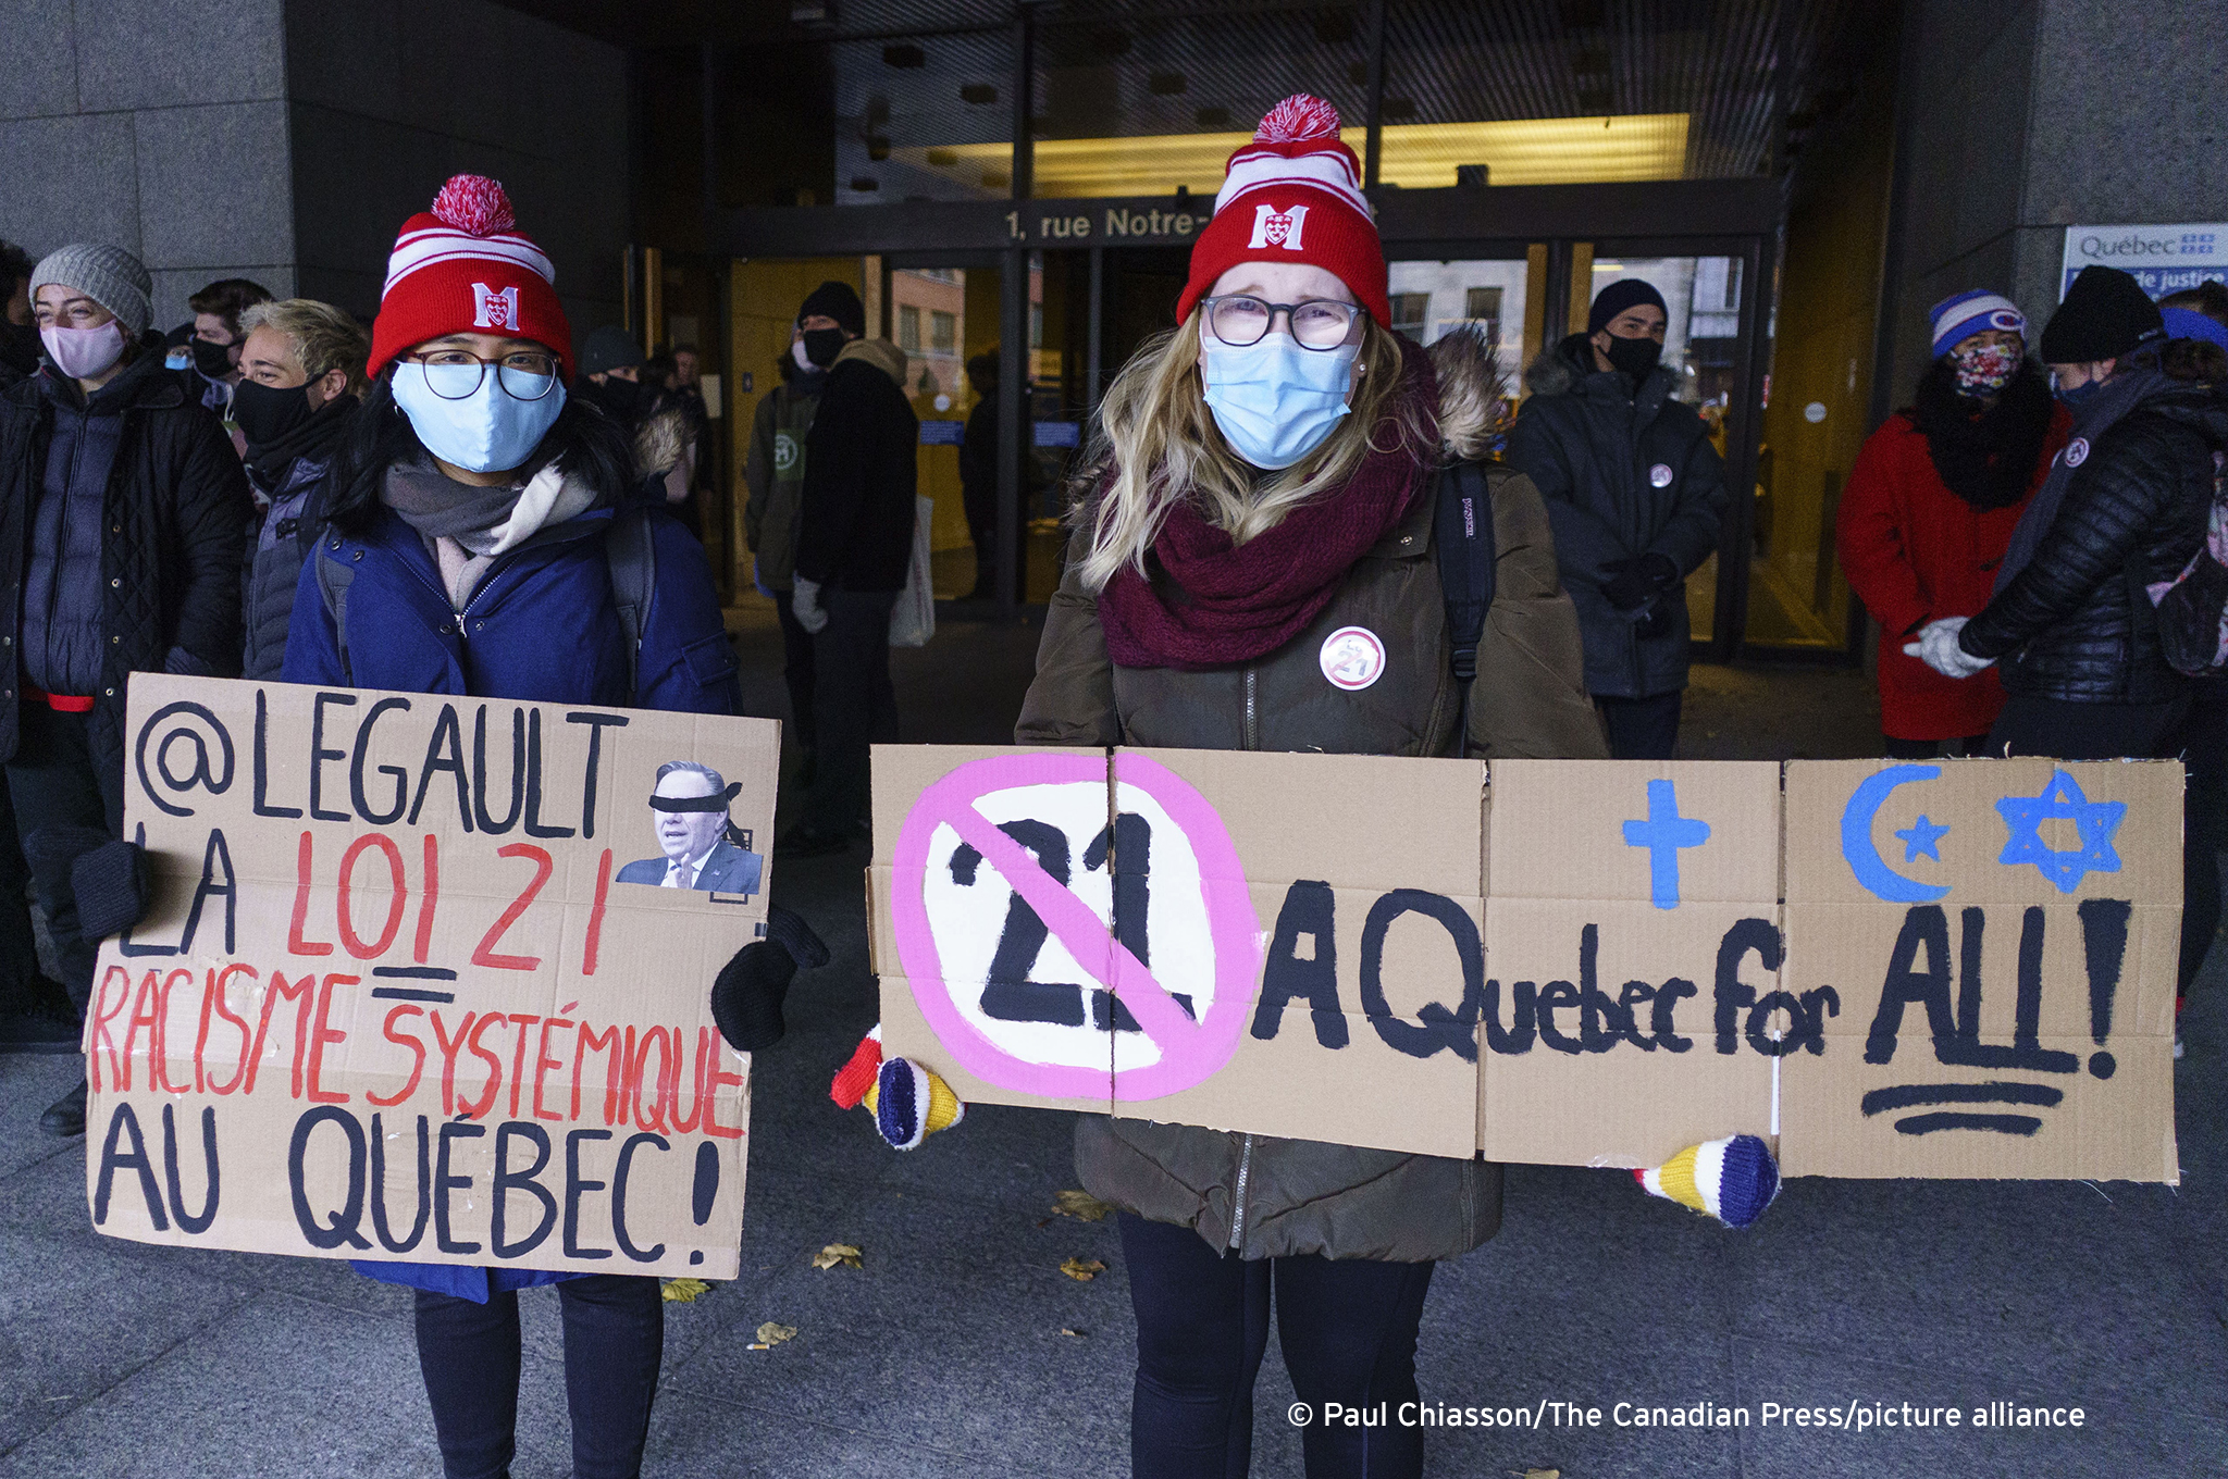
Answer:
[{"label": "cardboard panel with A Q and right half of pink circle", "polygon": [[1116,880],[1114,1114],[1468,1156],[1484,780],[1464,760],[1116,751],[1141,882]]}]

